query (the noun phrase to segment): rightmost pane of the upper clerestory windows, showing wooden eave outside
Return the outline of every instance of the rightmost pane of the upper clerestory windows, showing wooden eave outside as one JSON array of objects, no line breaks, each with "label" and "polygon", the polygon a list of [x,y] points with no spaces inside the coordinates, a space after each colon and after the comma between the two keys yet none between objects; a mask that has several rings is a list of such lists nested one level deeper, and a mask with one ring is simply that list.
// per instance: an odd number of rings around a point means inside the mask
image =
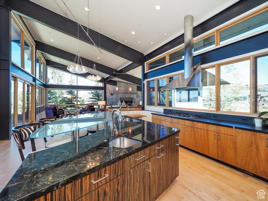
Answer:
[{"label": "rightmost pane of the upper clerestory windows, showing wooden eave outside", "polygon": [[268,28],[268,10],[219,32],[219,44]]}]

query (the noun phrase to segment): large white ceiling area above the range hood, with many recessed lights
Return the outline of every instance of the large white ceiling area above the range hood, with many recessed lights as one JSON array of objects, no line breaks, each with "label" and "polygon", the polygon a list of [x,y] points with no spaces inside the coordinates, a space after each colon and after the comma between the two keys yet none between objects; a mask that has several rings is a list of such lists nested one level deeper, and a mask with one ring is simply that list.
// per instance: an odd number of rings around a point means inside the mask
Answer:
[{"label": "large white ceiling area above the range hood, with many recessed lights", "polygon": [[[32,1],[75,21],[61,0]],[[147,54],[183,33],[185,15],[193,15],[194,25],[197,25],[236,1],[238,0],[90,1],[89,27]],[[87,26],[88,12],[84,8],[88,7],[88,1],[65,0],[65,3],[77,20]],[[156,10],[156,5],[160,5],[161,9]],[[131,34],[132,31],[136,34]]]}]

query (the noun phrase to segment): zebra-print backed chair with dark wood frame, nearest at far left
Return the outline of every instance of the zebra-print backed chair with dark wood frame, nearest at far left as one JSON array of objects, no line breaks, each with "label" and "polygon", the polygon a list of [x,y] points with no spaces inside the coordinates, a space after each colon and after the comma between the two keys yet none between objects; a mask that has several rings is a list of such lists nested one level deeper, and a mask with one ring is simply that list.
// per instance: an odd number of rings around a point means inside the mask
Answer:
[{"label": "zebra-print backed chair with dark wood frame, nearest at far left", "polygon": [[40,123],[32,123],[32,124],[24,124],[24,125],[20,125],[20,126],[14,126],[11,129],[11,133],[14,137],[15,143],[18,146],[18,151],[20,153],[21,161],[24,161],[24,159],[28,155],[27,154],[24,156],[23,152],[22,152],[22,150],[25,149],[24,142],[31,140],[32,152],[30,152],[29,154],[31,154],[33,152],[44,150],[44,149],[39,149],[36,151],[34,138],[30,138],[30,135],[40,127],[41,127]]}]

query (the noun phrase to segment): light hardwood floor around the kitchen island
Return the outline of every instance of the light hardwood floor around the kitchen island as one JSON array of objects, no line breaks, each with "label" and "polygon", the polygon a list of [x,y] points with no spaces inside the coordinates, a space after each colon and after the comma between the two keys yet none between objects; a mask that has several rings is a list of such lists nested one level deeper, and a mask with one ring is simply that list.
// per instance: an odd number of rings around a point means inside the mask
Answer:
[{"label": "light hardwood floor around the kitchen island", "polygon": [[[36,139],[36,149],[44,148],[44,140]],[[25,143],[24,154],[31,152],[31,143]],[[180,175],[159,196],[157,201],[245,201],[259,200],[256,192],[267,193],[268,183],[229,168],[180,147]],[[0,191],[21,164],[14,139],[0,141]]]}]

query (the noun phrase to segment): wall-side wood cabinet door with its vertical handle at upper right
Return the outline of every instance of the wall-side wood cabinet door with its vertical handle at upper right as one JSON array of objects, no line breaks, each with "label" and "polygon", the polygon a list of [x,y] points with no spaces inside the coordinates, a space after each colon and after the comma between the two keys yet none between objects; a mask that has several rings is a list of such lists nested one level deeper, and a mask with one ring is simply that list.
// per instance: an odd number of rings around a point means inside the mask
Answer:
[{"label": "wall-side wood cabinet door with its vertical handle at upper right", "polygon": [[202,153],[217,158],[217,133],[202,130]]}]

